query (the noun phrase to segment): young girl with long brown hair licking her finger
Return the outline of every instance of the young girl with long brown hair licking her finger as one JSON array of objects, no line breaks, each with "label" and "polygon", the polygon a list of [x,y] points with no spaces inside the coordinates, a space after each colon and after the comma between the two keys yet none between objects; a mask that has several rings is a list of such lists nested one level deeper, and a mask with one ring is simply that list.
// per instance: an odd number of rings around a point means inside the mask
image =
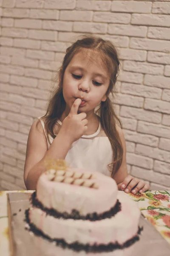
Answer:
[{"label": "young girl with long brown hair licking her finger", "polygon": [[110,97],[118,71],[119,59],[110,41],[83,36],[68,47],[47,112],[29,132],[27,189],[36,188],[45,158],[65,159],[71,167],[109,175],[127,193],[149,189],[127,175],[125,138]]}]

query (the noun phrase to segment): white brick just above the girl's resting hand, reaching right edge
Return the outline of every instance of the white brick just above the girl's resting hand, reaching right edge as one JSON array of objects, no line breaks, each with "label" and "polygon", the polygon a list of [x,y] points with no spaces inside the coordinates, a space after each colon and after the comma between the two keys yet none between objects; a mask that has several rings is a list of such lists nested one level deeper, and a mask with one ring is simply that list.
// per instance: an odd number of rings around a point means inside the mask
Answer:
[{"label": "white brick just above the girl's resting hand, reaching right edge", "polygon": [[135,175],[136,177],[147,179],[152,182],[158,182],[159,180],[159,183],[165,186],[169,186],[170,184],[170,177],[168,175],[161,175],[158,172],[153,172],[152,170],[148,171],[143,168],[136,168],[135,166],[132,166],[131,175]]}]

